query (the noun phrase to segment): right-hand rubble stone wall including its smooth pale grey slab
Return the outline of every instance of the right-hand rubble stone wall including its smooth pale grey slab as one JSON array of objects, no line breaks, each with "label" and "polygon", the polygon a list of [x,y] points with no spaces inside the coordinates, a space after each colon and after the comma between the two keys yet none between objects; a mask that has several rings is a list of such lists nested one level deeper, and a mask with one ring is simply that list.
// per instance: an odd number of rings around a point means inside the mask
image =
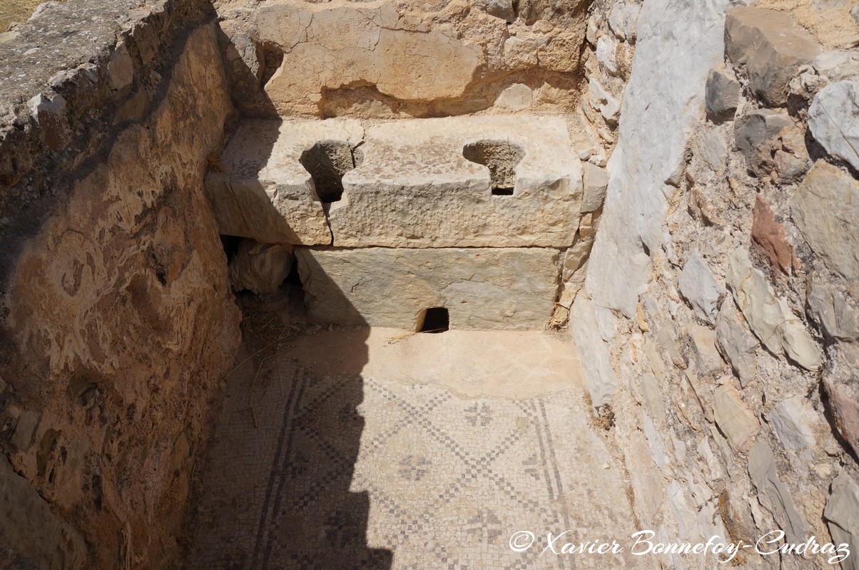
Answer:
[{"label": "right-hand rubble stone wall including its smooth pale grey slab", "polygon": [[803,27],[767,5],[643,4],[570,330],[642,528],[752,545],[782,530],[844,543],[852,568],[859,25],[844,6],[796,10]]}]

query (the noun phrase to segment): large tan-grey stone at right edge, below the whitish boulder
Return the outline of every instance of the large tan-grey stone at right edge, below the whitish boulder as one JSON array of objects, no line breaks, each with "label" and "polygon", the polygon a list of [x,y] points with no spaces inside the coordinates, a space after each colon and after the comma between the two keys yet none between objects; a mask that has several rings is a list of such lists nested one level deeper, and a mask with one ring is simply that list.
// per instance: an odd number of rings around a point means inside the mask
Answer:
[{"label": "large tan-grey stone at right edge, below the whitish boulder", "polygon": [[795,192],[790,214],[826,267],[849,282],[859,280],[859,180],[817,161]]}]

